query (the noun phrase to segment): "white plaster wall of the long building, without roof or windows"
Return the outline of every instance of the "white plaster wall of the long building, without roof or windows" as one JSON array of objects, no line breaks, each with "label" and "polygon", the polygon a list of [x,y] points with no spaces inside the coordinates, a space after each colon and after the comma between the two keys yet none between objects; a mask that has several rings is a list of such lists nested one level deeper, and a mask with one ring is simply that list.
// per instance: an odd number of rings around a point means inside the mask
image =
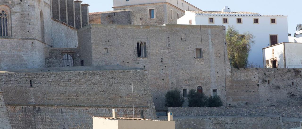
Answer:
[{"label": "white plaster wall of the long building, without roof or windows", "polygon": [[[192,24],[196,25],[233,25],[239,31],[240,34],[245,32],[252,33],[255,38],[255,44],[252,46],[249,53],[249,63],[262,65],[262,48],[270,45],[270,34],[278,35],[278,43],[288,42],[288,21],[287,17],[276,16],[194,16],[192,12],[186,11],[188,16],[183,16],[177,20],[177,24],[189,24],[189,20],[192,20]],[[194,13],[193,13],[194,14]],[[209,18],[214,18],[214,24],[209,24]],[[223,24],[223,18],[228,18],[228,24]],[[242,24],[237,24],[236,18],[242,18]],[[259,18],[259,24],[253,23],[253,18]],[[271,18],[276,18],[277,24],[271,24]]]}]

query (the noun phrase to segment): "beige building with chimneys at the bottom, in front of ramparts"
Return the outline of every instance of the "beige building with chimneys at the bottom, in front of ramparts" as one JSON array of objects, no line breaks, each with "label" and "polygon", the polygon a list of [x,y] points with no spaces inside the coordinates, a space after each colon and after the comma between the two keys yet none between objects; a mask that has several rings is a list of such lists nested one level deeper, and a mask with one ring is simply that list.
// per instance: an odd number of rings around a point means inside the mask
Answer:
[{"label": "beige building with chimneys at the bottom, in front of ramparts", "polygon": [[93,117],[93,129],[175,129],[175,121],[141,118]]}]

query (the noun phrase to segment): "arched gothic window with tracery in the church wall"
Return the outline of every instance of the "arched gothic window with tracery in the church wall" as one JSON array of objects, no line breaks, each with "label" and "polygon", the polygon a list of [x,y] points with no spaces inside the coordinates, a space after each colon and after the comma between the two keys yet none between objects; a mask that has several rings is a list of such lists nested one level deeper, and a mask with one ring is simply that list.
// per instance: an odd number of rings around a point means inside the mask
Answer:
[{"label": "arched gothic window with tracery in the church wall", "polygon": [[4,9],[1,10],[0,12],[0,36],[8,36],[8,23],[9,23],[9,19],[8,19],[8,12],[5,11]]}]

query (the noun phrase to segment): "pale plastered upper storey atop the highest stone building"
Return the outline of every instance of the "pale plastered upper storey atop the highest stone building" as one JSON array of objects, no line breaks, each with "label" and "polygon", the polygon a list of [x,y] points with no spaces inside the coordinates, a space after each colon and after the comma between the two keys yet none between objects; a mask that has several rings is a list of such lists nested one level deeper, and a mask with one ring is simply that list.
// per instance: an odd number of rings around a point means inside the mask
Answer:
[{"label": "pale plastered upper storey atop the highest stone building", "polygon": [[170,3],[182,10],[196,10],[201,11],[201,9],[191,5],[190,3],[184,0],[113,0],[113,7],[120,7],[120,6],[130,6],[130,5],[143,5],[143,4],[152,4],[152,3]]}]

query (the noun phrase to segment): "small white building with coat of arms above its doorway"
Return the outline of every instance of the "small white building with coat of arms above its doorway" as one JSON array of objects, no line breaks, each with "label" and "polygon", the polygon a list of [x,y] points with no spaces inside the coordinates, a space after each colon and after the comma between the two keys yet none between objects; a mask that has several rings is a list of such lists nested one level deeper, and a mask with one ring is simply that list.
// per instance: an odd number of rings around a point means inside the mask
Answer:
[{"label": "small white building with coat of arms above its doorway", "polygon": [[263,48],[266,68],[302,68],[302,43],[282,42]]}]

